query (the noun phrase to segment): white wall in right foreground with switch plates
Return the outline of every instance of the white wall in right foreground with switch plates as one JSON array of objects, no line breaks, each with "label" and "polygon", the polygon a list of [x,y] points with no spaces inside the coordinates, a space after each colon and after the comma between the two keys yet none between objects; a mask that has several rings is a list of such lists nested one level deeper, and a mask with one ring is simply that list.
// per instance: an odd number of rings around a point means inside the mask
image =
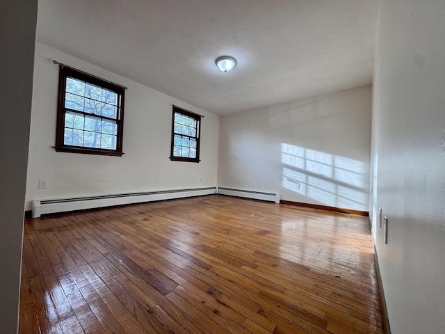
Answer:
[{"label": "white wall in right foreground with switch plates", "polygon": [[373,100],[371,210],[391,332],[445,333],[445,1],[380,2]]}]

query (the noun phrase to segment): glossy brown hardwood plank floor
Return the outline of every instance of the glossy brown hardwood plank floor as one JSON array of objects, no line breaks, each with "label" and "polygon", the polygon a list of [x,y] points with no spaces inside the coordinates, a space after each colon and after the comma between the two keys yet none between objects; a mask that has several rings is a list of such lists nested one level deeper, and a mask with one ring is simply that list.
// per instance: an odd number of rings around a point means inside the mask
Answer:
[{"label": "glossy brown hardwood plank floor", "polygon": [[205,196],[30,219],[19,333],[383,333],[367,218]]}]

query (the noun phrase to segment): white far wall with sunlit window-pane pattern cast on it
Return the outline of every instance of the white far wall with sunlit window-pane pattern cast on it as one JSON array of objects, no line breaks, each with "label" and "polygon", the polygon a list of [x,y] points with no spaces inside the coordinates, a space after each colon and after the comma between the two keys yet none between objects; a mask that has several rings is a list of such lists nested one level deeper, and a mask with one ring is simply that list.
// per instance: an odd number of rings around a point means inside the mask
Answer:
[{"label": "white far wall with sunlit window-pane pattern cast on it", "polygon": [[218,186],[368,211],[370,145],[371,86],[224,116]]}]

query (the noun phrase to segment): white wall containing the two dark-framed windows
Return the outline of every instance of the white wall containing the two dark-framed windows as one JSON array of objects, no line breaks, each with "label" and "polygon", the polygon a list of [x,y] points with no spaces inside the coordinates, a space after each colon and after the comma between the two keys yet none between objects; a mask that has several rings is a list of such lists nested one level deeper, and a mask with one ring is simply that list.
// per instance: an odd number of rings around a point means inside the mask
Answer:
[{"label": "white wall containing the two dark-framed windows", "polygon": [[[56,152],[58,66],[53,60],[123,86],[124,155],[107,157]],[[204,116],[200,163],[170,161],[172,104]],[[219,117],[37,44],[26,209],[35,199],[216,186]],[[38,189],[47,179],[48,189]]]}]

